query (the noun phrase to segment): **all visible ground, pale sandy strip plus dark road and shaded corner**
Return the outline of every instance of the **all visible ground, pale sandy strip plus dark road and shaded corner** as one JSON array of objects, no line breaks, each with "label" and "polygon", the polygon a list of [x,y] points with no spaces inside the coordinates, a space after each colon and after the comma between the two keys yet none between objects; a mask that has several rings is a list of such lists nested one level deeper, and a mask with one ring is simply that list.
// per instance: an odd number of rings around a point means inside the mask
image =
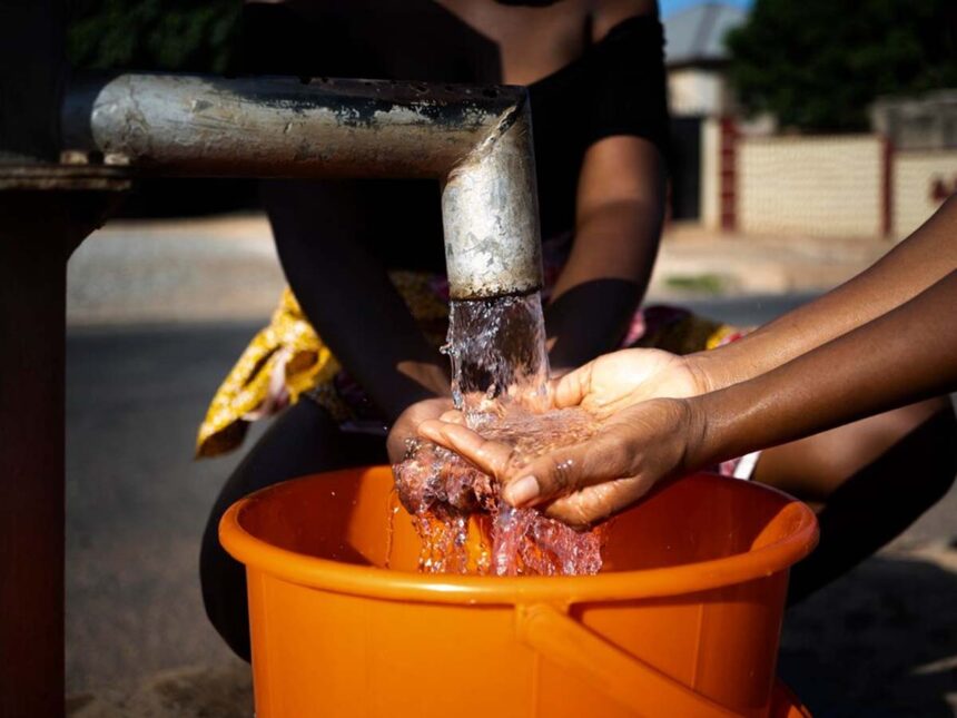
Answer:
[{"label": "all visible ground, pale sandy strip plus dark road and shaded corner", "polygon": [[[887,248],[680,227],[652,295],[767,321]],[[73,256],[69,282],[69,715],[250,716],[248,668],[207,623],[196,576],[206,514],[238,456],[197,463],[191,445],[210,392],[282,287],[268,226],[255,216],[110,226]],[[788,613],[780,673],[816,715],[957,715],[955,512],[957,490]]]}]

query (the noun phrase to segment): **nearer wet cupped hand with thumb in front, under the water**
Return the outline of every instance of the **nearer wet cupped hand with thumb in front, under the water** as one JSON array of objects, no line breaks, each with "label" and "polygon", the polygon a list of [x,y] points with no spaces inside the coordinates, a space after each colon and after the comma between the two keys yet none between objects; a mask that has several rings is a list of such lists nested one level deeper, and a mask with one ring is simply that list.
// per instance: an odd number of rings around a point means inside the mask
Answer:
[{"label": "nearer wet cupped hand with thumb in front, under the water", "polygon": [[553,519],[586,528],[627,509],[659,481],[684,473],[703,422],[692,402],[655,399],[608,415],[588,441],[532,461],[461,423],[430,420],[418,433],[495,476],[513,506],[541,506]]}]

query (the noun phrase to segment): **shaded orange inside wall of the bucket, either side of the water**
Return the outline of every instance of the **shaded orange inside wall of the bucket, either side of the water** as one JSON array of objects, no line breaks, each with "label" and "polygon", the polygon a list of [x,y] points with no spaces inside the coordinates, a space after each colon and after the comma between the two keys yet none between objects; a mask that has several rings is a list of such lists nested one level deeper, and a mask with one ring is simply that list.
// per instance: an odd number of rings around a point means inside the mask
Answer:
[{"label": "shaded orange inside wall of the bucket, either side of the water", "polygon": [[[795,534],[808,510],[786,494],[695,474],[661,488],[613,519],[602,572],[660,569],[753,552]],[[254,494],[237,517],[273,547],[416,572],[421,542],[387,466],[286,482]]]}]

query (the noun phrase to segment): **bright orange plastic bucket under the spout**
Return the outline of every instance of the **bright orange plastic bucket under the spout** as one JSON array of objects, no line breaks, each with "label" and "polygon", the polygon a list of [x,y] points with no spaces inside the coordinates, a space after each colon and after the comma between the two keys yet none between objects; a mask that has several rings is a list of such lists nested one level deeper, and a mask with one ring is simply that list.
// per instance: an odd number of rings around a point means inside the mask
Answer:
[{"label": "bright orange plastic bucket under the spout", "polygon": [[223,517],[259,718],[807,715],[775,680],[802,503],[699,474],[615,520],[599,576],[435,576],[392,485],[308,476]]}]

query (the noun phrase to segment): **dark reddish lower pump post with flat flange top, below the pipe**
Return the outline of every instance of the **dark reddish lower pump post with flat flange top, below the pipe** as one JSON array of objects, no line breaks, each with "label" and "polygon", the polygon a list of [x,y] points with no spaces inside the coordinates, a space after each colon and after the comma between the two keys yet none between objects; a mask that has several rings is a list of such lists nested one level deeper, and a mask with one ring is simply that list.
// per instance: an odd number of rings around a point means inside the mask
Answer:
[{"label": "dark reddish lower pump post with flat flange top, below the pipe", "polygon": [[0,716],[63,714],[67,258],[129,187],[0,166]]}]

